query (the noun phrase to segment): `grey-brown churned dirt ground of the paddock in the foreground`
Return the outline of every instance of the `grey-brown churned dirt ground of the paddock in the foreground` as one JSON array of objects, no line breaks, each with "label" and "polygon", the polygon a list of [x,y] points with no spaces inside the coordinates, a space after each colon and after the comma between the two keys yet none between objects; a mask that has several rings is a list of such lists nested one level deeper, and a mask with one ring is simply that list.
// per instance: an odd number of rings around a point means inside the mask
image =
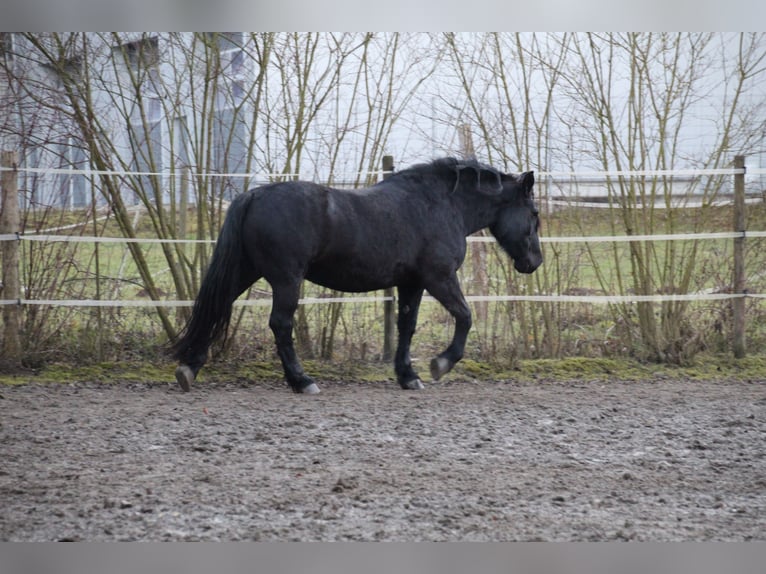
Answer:
[{"label": "grey-brown churned dirt ground of the paddock in the foreground", "polygon": [[2,387],[0,539],[766,540],[764,382],[320,384]]}]

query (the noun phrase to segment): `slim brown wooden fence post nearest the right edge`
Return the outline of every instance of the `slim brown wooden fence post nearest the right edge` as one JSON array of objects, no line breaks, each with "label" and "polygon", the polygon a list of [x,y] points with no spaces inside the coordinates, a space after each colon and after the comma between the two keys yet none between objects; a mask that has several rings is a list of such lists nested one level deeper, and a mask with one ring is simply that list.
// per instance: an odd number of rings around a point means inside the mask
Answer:
[{"label": "slim brown wooden fence post nearest the right edge", "polygon": [[[742,235],[734,238],[734,277],[732,290],[737,295],[747,293],[745,288],[745,156],[734,156],[735,169],[742,173],[734,174],[734,231]],[[732,349],[734,357],[745,356],[745,298],[732,299]]]}]

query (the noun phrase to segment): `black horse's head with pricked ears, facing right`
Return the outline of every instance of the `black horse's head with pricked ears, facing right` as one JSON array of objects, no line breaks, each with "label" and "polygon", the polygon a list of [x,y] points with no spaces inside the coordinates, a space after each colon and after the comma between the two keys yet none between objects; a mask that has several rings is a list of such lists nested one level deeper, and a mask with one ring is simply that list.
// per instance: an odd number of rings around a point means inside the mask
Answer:
[{"label": "black horse's head with pricked ears, facing right", "polygon": [[534,172],[519,176],[501,173],[499,183],[500,203],[489,230],[513,259],[516,271],[532,273],[543,262],[538,236],[540,217],[532,193]]}]

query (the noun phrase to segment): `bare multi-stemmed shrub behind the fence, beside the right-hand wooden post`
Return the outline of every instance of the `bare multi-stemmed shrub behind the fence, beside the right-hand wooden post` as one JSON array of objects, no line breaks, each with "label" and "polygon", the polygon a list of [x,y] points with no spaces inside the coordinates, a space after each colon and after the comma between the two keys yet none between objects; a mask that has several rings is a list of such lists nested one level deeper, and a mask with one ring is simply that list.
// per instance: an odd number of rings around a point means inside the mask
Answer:
[{"label": "bare multi-stemmed shrub behind the fence, beside the right-hand wooden post", "polygon": [[[733,66],[727,62],[732,42],[739,43]],[[731,161],[732,149],[743,149],[754,138],[762,138],[762,127],[741,118],[743,95],[763,81],[762,37],[587,34],[573,38],[571,49],[574,57],[562,77],[574,103],[583,148],[601,169],[722,167]],[[720,121],[713,137],[694,149],[689,146],[698,121],[694,113],[705,104],[718,110]],[[671,207],[682,185],[660,175],[608,178],[615,232],[677,232],[677,211]],[[721,178],[707,179],[701,192],[704,200],[715,198],[721,185]],[[710,213],[699,210],[695,228],[704,229]],[[621,265],[625,253],[620,245],[614,245],[608,265],[593,252],[591,261],[604,284],[606,270],[611,269],[619,285],[630,286],[638,294],[684,293],[692,286],[698,248],[698,242],[631,242],[627,273]],[[698,350],[688,303],[669,301],[661,307],[656,314],[653,303],[636,304],[635,342],[640,342],[649,358],[684,362]],[[619,306],[618,311],[623,324],[632,324],[629,305]]]}]

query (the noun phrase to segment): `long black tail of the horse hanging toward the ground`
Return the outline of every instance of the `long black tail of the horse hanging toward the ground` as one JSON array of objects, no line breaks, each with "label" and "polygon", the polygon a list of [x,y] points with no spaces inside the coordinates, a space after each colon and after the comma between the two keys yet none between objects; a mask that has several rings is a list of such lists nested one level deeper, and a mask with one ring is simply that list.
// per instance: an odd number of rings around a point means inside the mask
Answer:
[{"label": "long black tail of the horse hanging toward the ground", "polygon": [[170,355],[181,363],[201,366],[210,345],[229,328],[234,300],[240,293],[242,227],[252,197],[243,193],[229,205],[191,317],[169,347]]}]

